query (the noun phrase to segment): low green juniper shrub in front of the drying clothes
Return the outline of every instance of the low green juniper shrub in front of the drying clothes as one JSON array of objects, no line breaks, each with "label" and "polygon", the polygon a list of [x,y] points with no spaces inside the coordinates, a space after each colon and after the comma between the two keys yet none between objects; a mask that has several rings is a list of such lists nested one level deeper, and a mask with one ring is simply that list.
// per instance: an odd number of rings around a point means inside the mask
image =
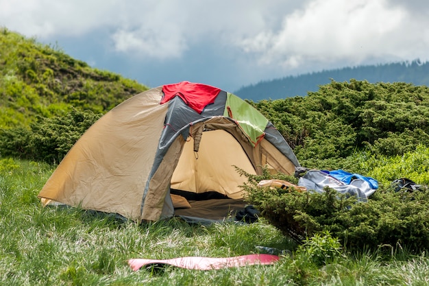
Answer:
[{"label": "low green juniper shrub in front of the drying clothes", "polygon": [[356,198],[326,188],[323,193],[245,185],[247,200],[273,226],[298,242],[330,232],[347,250],[400,244],[414,251],[429,246],[429,191],[395,193],[386,187],[369,198]]}]

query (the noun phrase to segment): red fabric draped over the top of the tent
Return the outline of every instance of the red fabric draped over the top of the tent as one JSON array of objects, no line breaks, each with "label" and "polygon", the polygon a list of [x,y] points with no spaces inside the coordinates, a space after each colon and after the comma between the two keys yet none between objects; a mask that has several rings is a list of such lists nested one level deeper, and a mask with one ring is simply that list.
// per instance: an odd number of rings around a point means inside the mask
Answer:
[{"label": "red fabric draped over the top of the tent", "polygon": [[201,114],[208,104],[215,102],[221,89],[206,84],[179,82],[178,84],[166,84],[162,86],[162,91],[164,92],[164,97],[162,97],[160,104],[169,102],[177,95],[189,107]]}]

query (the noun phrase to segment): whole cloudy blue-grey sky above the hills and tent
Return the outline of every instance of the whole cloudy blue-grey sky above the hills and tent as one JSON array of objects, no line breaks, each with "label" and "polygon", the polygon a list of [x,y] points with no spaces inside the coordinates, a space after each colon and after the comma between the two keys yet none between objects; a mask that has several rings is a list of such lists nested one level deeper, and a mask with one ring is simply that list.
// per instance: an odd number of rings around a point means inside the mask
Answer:
[{"label": "whole cloudy blue-grey sky above the hills and tent", "polygon": [[149,87],[429,60],[427,0],[0,0],[0,27]]}]

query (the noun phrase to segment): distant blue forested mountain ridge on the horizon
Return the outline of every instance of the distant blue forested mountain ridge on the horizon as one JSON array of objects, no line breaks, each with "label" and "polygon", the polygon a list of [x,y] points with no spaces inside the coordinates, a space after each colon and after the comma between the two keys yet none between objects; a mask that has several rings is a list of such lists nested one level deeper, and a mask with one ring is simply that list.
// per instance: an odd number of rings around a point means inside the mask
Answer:
[{"label": "distant blue forested mountain ridge on the horizon", "polygon": [[370,83],[406,82],[416,86],[429,86],[429,62],[413,60],[306,73],[243,86],[234,94],[254,102],[262,99],[284,99],[318,91],[319,86],[329,84],[331,80],[349,82],[351,79],[367,80]]}]

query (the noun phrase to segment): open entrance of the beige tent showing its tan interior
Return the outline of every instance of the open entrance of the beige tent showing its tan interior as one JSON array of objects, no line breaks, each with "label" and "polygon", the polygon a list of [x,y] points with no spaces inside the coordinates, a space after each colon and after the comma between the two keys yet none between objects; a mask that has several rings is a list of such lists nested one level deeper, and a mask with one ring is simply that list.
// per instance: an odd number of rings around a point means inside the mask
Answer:
[{"label": "open entrance of the beige tent showing its tan interior", "polygon": [[[236,167],[256,174],[247,154],[225,130],[205,131],[199,151],[194,152],[193,146],[190,137],[171,178],[171,194],[180,195],[189,203],[188,206],[178,204],[175,215],[205,219],[233,216],[245,207],[240,186],[247,181],[238,174]],[[172,199],[175,205],[175,198]]]}]

